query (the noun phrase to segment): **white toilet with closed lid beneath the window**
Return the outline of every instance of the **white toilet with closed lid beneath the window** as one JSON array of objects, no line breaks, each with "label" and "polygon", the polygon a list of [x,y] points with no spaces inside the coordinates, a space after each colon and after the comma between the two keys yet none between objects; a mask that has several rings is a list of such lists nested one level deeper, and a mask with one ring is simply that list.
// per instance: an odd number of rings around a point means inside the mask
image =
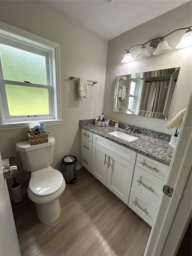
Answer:
[{"label": "white toilet with closed lid beneath the window", "polygon": [[27,193],[35,202],[37,214],[41,222],[50,224],[61,213],[59,197],[65,189],[63,175],[53,169],[55,139],[49,137],[48,142],[31,146],[29,141],[16,143],[23,169],[31,172]]}]

